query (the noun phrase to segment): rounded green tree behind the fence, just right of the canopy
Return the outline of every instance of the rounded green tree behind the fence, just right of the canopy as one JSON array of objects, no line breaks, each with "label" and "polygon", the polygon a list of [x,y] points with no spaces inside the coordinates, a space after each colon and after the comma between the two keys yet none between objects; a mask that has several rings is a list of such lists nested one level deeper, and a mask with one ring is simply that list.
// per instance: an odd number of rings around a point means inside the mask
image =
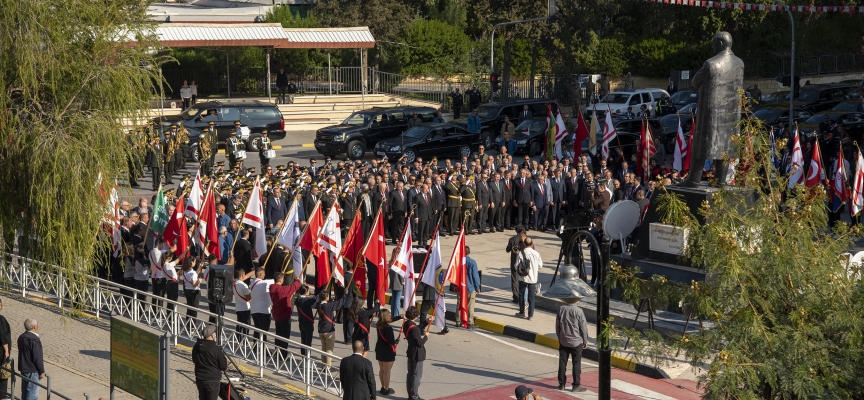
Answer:
[{"label": "rounded green tree behind the fence, just right of the canopy", "polygon": [[471,41],[446,22],[418,19],[399,38],[399,61],[406,74],[453,75],[466,71]]}]

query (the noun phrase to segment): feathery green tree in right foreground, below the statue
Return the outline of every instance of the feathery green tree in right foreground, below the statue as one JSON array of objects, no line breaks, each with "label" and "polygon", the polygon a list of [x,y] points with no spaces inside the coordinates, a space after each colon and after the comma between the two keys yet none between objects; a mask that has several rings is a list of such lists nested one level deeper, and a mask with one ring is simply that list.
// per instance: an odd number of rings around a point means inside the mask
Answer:
[{"label": "feathery green tree in right foreground, below the statue", "polygon": [[[686,256],[711,276],[661,290],[713,324],[674,346],[708,363],[706,399],[862,398],[861,266],[841,256],[860,227],[829,231],[821,185],[787,189],[760,121],[742,121],[732,141],[735,186],[710,206],[691,211],[678,195],[659,195],[661,221],[689,231]],[[623,270],[613,268],[611,279],[627,281]]]}]

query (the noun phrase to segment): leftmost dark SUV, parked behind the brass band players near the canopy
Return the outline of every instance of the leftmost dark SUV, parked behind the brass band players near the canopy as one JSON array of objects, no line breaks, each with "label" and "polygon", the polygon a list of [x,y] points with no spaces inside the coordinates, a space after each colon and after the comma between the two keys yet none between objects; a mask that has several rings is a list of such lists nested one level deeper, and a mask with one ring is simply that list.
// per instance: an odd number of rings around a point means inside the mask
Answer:
[{"label": "leftmost dark SUV, parked behind the brass band players near the canopy", "polygon": [[[246,101],[208,101],[189,107],[178,115],[166,115],[153,118],[153,122],[167,130],[170,125],[182,122],[189,132],[189,154],[198,161],[201,153],[198,151],[198,136],[213,122],[219,143],[224,143],[234,130],[234,122],[240,121],[243,135],[240,140],[246,144],[247,151],[258,151],[254,139],[261,136],[261,131],[267,129],[272,140],[285,138],[285,120],[279,107],[273,103],[258,100]],[[248,133],[247,133],[248,132]]]}]

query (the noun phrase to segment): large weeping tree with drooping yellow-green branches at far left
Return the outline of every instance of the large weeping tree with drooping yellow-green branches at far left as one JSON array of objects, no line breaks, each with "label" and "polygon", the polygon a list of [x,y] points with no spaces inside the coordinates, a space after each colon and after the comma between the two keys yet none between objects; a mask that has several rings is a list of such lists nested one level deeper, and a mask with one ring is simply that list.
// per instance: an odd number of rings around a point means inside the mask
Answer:
[{"label": "large weeping tree with drooping yellow-green branches at far left", "polygon": [[[29,255],[89,271],[108,195],[126,175],[124,119],[158,82],[146,2],[2,0],[0,227]],[[101,183],[101,184],[100,184]],[[70,278],[72,279],[72,278]]]}]

